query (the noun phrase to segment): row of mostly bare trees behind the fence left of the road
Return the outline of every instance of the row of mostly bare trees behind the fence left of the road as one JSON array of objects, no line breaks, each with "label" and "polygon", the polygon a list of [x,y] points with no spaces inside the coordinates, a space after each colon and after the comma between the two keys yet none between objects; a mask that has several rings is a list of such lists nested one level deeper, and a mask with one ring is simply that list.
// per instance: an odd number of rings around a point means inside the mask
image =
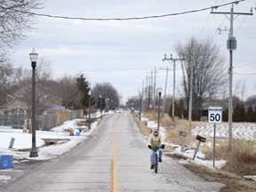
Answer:
[{"label": "row of mostly bare trees behind the fence left of the road", "polygon": [[[31,70],[27,68],[13,68],[11,64],[0,63],[0,107],[11,100],[19,100],[31,108]],[[91,90],[92,95],[89,95]],[[101,95],[101,96],[100,96]],[[120,95],[116,88],[109,83],[91,83],[83,73],[75,76],[64,75],[58,79],[52,78],[51,65],[45,58],[36,63],[36,114],[45,109],[61,105],[65,108],[81,109],[117,108],[120,104]],[[101,105],[99,101],[101,100]]]}]

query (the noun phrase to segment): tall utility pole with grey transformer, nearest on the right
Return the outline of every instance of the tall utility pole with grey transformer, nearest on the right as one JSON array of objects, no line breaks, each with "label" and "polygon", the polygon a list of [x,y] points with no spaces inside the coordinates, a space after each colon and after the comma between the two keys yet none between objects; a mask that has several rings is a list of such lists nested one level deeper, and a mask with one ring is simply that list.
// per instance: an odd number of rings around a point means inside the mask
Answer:
[{"label": "tall utility pole with grey transformer, nearest on the right", "polygon": [[231,148],[232,142],[232,111],[233,111],[233,93],[232,93],[232,86],[233,86],[233,51],[236,50],[236,37],[233,36],[233,21],[234,15],[253,15],[252,9],[251,12],[234,12],[234,4],[238,4],[239,2],[235,2],[232,4],[230,12],[211,12],[213,14],[224,14],[226,17],[230,14],[230,28],[228,34],[228,41],[227,41],[227,48],[229,50],[229,68],[228,68],[228,75],[229,75],[229,99],[228,99],[228,148]]}]

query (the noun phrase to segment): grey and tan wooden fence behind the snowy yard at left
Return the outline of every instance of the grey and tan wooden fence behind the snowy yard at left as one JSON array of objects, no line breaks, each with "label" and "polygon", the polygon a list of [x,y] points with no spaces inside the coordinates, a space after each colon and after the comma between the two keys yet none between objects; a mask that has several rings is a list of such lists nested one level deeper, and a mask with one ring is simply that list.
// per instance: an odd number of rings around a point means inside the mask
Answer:
[{"label": "grey and tan wooden fence behind the snowy yard at left", "polygon": [[[63,124],[65,121],[80,118],[83,110],[51,111],[47,115],[36,115],[36,130],[49,130],[55,126]],[[22,129],[27,120],[26,115],[0,115],[0,126],[12,126],[14,129]]]}]

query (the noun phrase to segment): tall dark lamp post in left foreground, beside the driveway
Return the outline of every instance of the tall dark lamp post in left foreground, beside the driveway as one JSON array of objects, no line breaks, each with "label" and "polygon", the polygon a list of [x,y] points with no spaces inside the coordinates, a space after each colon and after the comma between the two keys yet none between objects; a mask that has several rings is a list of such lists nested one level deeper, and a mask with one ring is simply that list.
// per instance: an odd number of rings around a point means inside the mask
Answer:
[{"label": "tall dark lamp post in left foreground, beside the driveway", "polygon": [[32,66],[32,148],[30,151],[30,157],[38,156],[36,151],[36,60],[38,53],[35,48],[29,53]]}]

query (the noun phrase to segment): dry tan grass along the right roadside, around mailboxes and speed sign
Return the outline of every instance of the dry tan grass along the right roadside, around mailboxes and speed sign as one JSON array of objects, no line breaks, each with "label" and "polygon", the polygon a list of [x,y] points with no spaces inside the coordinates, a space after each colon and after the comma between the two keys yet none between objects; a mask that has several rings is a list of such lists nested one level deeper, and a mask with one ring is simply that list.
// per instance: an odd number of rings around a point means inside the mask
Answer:
[{"label": "dry tan grass along the right roadside, around mailboxes and speed sign", "polygon": [[[149,120],[157,120],[156,111],[148,111],[147,115]],[[150,133],[150,129],[147,128],[145,123],[141,123],[140,121],[136,122],[140,126],[140,130],[143,134],[148,135]],[[189,146],[191,142],[196,141],[195,136],[192,136],[188,130],[188,120],[175,119],[175,128],[173,128],[170,116],[162,115],[160,124],[166,128],[167,142],[180,144],[180,131],[187,132],[187,146]],[[192,122],[192,126],[199,124],[201,123]],[[243,175],[256,175],[256,144],[252,141],[234,140],[232,148],[229,149],[227,139],[218,139],[216,142],[216,159],[225,159],[228,162],[222,170],[212,170],[196,164],[187,165],[188,169],[196,172],[206,180],[224,182],[227,187],[223,188],[221,191],[256,191],[255,181],[246,180],[242,177]],[[172,150],[171,147],[164,149],[164,151]],[[206,159],[212,160],[212,147],[201,145],[200,150],[203,150]]]}]

